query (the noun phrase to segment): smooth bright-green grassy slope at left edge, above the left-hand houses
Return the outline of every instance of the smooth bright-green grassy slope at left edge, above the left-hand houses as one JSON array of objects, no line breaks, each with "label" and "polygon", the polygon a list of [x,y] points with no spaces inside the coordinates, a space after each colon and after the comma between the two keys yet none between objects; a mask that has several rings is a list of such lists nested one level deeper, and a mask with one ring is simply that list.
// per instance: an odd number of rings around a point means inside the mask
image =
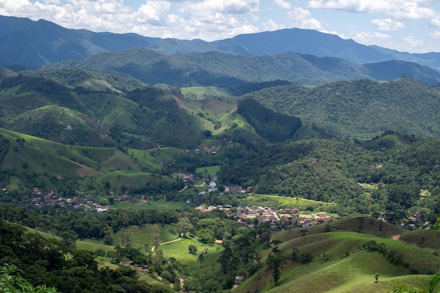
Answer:
[{"label": "smooth bright-green grassy slope at left edge, above the left-hand houses", "polygon": [[[6,129],[0,129],[0,134],[10,142],[1,164],[1,171],[7,174],[4,187],[17,193],[28,193],[34,187],[58,186],[56,189],[64,190],[60,182],[53,180],[56,176],[63,176],[66,186],[76,185],[70,190],[74,194],[75,190],[106,193],[110,190],[103,190],[105,182],[117,192],[141,190],[147,184],[175,183],[174,179],[158,174],[176,150],[163,149],[157,154],[159,158],[154,149],[122,152],[117,148],[67,146]],[[82,190],[78,181],[84,182],[83,188],[88,187]]]}]

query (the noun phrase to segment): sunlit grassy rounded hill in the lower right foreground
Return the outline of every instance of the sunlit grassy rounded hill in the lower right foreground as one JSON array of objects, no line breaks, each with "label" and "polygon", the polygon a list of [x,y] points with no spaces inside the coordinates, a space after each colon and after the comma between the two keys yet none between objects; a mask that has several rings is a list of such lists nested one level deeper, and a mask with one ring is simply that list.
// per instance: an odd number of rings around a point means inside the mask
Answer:
[{"label": "sunlit grassy rounded hill in the lower right foreground", "polygon": [[[368,221],[370,221],[368,219]],[[371,221],[374,221],[371,219]],[[377,223],[376,223],[377,224]],[[336,226],[335,226],[336,225]],[[439,256],[431,248],[422,248],[408,242],[392,240],[391,237],[370,235],[370,231],[334,232],[335,228],[355,226],[356,218],[330,223],[330,232],[318,232],[319,226],[307,228],[306,236],[299,235],[299,229],[276,233],[273,240],[279,240],[280,251],[286,259],[280,285],[275,287],[271,271],[266,266],[246,280],[236,290],[249,292],[255,289],[264,292],[387,292],[396,282],[427,289],[432,274],[436,273]],[[387,233],[399,232],[399,228],[385,224]],[[389,230],[391,229],[391,230]],[[401,231],[400,231],[401,232]],[[377,233],[375,233],[377,234]],[[385,255],[363,248],[374,241],[387,247]],[[297,249],[292,257],[292,249]],[[401,255],[401,262],[392,263],[389,254]],[[309,253],[313,261],[303,263],[301,255]],[[263,260],[268,251],[260,252]],[[418,269],[413,275],[411,271]],[[375,282],[379,274],[379,282]]]}]

